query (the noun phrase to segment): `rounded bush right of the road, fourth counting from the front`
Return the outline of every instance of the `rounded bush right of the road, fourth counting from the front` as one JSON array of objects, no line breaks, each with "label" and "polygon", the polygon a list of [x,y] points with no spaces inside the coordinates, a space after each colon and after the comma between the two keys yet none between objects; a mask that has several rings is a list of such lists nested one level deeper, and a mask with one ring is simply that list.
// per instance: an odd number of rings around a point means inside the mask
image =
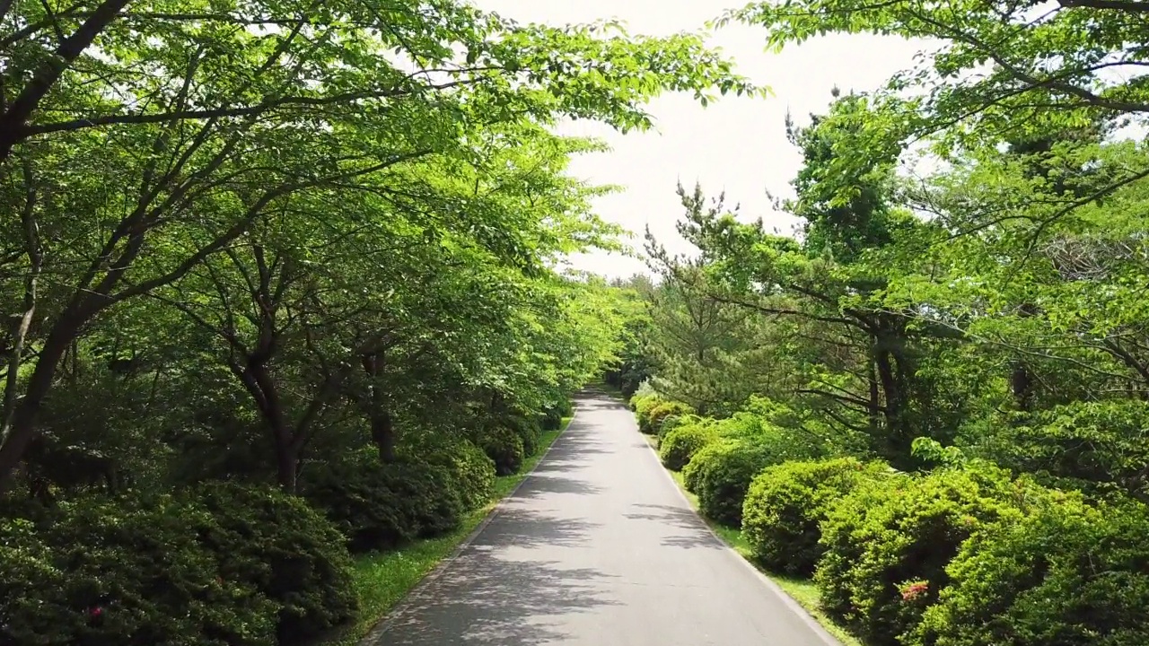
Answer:
[{"label": "rounded bush right of the road, fourth counting from the front", "polygon": [[742,524],[742,501],[750,482],[774,462],[777,456],[754,443],[719,439],[694,454],[683,469],[683,479],[699,497],[703,515],[737,528]]}]

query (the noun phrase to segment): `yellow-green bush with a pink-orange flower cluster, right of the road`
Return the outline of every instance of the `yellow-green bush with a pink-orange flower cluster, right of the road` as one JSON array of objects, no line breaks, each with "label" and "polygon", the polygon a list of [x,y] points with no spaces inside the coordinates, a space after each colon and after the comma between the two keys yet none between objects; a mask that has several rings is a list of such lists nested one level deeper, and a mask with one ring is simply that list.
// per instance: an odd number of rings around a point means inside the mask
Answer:
[{"label": "yellow-green bush with a pink-orange flower cluster, right of the road", "polygon": [[962,543],[1016,515],[1007,500],[1027,486],[989,467],[862,483],[822,525],[823,606],[867,644],[897,645],[949,583]]}]

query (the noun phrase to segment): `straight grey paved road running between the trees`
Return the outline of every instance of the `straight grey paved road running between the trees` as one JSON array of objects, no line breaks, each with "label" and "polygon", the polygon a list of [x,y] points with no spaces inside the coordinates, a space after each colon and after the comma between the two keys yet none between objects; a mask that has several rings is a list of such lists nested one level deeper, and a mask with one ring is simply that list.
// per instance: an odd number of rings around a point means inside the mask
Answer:
[{"label": "straight grey paved road running between the trees", "polygon": [[626,408],[577,405],[489,524],[364,644],[836,644],[714,537]]}]

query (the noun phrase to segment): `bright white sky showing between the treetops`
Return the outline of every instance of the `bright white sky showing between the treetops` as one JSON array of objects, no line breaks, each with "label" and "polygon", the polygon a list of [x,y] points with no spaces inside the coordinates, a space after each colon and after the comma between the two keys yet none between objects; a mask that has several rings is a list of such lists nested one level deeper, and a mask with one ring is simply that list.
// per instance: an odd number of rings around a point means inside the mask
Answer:
[{"label": "bright white sky showing between the treetops", "polygon": [[[518,22],[587,23],[600,18],[625,21],[631,33],[664,36],[696,31],[742,0],[472,0]],[[649,106],[656,131],[619,134],[592,123],[564,125],[562,133],[606,140],[609,153],[574,160],[572,172],[595,184],[626,186],[624,193],[596,202],[600,216],[634,232],[641,249],[649,224],[655,236],[674,252],[689,246],[678,238],[674,223],[681,205],[674,194],[678,179],[687,189],[696,180],[708,195],[726,192],[727,205],[741,203],[742,214],[762,216],[768,225],[789,231],[792,220],[773,213],[766,191],[789,195],[788,182],[800,156],[786,140],[785,116],[804,123],[823,111],[835,85],[843,92],[874,90],[894,72],[909,68],[921,48],[895,38],[828,36],[789,47],[781,54],[764,51],[766,32],[741,25],[720,30],[711,44],[737,60],[738,71],[769,85],[768,99],[724,97],[703,108],[688,95],[666,94]],[[645,271],[639,259],[593,254],[572,264],[609,277]]]}]

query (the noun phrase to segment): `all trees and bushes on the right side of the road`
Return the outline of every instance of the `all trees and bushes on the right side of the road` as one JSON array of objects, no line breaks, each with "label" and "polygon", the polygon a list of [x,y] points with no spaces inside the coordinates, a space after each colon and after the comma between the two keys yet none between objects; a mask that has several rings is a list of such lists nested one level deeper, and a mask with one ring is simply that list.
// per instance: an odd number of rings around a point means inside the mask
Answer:
[{"label": "all trees and bushes on the right side of the road", "polygon": [[1149,644],[1141,5],[723,18],[940,44],[789,120],[793,234],[680,186],[694,252],[648,233],[608,375],[718,533],[812,580],[849,643]]}]

